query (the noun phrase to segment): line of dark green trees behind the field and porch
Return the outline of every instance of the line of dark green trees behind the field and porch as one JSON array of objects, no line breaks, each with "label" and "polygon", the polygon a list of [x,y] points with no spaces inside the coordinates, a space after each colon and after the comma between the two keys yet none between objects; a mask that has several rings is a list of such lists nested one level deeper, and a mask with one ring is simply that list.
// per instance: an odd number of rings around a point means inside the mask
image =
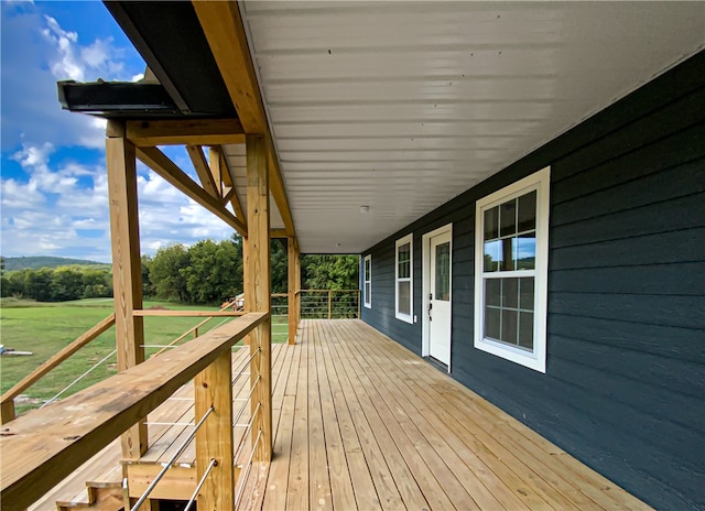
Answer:
[{"label": "line of dark green trees behind the field and porch", "polygon": [[[272,293],[288,287],[286,240],[272,240]],[[187,304],[220,304],[242,293],[242,239],[202,240],[186,247],[161,248],[142,256],[142,294]],[[302,289],[348,290],[358,287],[357,256],[302,256]],[[112,296],[109,269],[63,267],[20,270],[1,276],[2,296],[63,302]]]}]

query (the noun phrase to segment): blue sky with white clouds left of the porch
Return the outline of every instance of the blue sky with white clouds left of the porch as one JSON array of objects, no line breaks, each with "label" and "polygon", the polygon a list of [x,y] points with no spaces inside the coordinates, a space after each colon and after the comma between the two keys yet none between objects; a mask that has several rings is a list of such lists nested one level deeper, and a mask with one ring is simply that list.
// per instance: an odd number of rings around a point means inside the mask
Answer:
[{"label": "blue sky with white clouds left of the porch", "polygon": [[[62,110],[56,81],[135,80],[144,62],[98,1],[0,1],[0,253],[110,261],[105,121]],[[185,171],[185,152],[172,159]],[[143,253],[231,229],[138,166]],[[193,173],[192,173],[193,175]]]}]

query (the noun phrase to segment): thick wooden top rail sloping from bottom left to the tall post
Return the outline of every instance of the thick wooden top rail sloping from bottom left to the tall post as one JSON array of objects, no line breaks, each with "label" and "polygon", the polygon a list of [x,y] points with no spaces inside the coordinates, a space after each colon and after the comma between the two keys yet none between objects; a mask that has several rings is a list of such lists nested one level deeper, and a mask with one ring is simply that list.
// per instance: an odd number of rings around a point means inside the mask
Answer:
[{"label": "thick wooden top rail sloping from bottom left to the tall post", "polygon": [[26,508],[268,317],[247,314],[3,426],[3,510]]}]

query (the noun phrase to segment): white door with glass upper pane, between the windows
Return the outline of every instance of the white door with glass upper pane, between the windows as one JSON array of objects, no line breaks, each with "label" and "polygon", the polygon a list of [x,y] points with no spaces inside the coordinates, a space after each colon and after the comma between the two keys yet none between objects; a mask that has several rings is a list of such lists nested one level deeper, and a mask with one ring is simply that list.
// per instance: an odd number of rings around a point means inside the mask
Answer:
[{"label": "white door with glass upper pane, between the windows", "polygon": [[451,232],[431,238],[429,355],[451,365]]}]

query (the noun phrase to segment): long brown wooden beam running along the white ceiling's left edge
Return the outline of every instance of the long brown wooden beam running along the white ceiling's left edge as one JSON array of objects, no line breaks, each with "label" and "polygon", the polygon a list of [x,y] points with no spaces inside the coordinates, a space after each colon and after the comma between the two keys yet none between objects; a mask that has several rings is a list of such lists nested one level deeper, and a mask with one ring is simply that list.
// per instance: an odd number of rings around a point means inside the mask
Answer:
[{"label": "long brown wooden beam running along the white ceiling's left edge", "polygon": [[[237,2],[193,1],[193,6],[245,132],[265,134],[268,140],[271,140],[264,104]],[[284,220],[288,235],[296,236],[286,188],[271,142],[268,142],[268,153],[272,197]]]}]

